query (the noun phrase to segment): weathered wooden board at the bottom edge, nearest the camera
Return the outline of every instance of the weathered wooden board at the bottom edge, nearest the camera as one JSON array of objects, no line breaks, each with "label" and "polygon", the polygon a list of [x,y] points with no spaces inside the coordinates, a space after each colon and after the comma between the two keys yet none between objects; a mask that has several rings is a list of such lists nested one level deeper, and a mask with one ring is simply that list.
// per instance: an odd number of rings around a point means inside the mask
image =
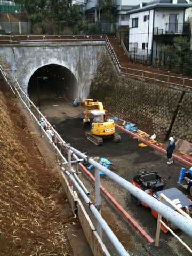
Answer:
[{"label": "weathered wooden board at the bottom edge, nearest the camera", "polygon": [[77,199],[77,209],[78,218],[81,222],[84,234],[86,236],[87,242],[89,243],[91,250],[95,256],[110,256],[106,246],[103,244],[101,238],[99,237],[95,227],[89,215],[86,213],[83,204],[80,199]]}]

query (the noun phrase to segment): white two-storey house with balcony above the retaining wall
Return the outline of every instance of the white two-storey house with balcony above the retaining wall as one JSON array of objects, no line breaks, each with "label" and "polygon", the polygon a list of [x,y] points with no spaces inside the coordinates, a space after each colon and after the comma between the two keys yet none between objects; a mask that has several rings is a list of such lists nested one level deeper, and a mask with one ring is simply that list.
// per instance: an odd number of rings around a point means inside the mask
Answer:
[{"label": "white two-storey house with balcony above the retaining wall", "polygon": [[188,36],[185,10],[192,7],[186,0],[154,0],[134,6],[130,15],[129,51],[158,58],[163,44],[178,35]]}]

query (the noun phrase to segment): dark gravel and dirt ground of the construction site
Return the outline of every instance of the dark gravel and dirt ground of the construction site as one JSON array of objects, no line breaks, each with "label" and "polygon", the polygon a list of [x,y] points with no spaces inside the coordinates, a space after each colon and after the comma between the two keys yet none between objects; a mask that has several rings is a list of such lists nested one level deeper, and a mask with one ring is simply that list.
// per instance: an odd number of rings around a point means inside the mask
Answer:
[{"label": "dark gravel and dirt ground of the construction site", "polygon": [[[167,188],[176,187],[190,198],[189,193],[177,184],[181,167],[187,166],[183,166],[179,162],[168,165],[165,155],[154,151],[151,147],[139,147],[140,142],[138,142],[137,139],[133,139],[133,137],[121,131],[117,131],[121,134],[121,142],[113,143],[106,139],[103,145],[95,146],[85,138],[85,129],[83,127],[84,107],[73,107],[72,102],[67,99],[55,98],[55,100],[53,100],[52,98],[50,101],[45,95],[45,98],[41,99],[41,109],[43,114],[47,116],[49,122],[52,125],[56,125],[57,131],[67,143],[70,143],[71,146],[83,153],[86,152],[90,157],[107,158],[113,163],[110,170],[126,180],[131,181],[134,175],[137,174],[138,169],[147,168],[151,171],[158,172],[163,179],[167,179],[169,175],[171,175],[171,179],[167,183]],[[94,171],[91,171],[91,173],[94,175]],[[87,188],[92,191],[90,198],[94,202],[93,184],[88,181],[84,175],[81,175],[81,179],[83,179]],[[106,176],[101,176],[101,184],[139,225],[155,239],[156,219],[151,215],[150,209],[135,206],[131,201],[129,193],[120,186],[117,186]],[[146,253],[146,250],[143,251],[143,245],[146,243],[140,241],[141,238],[139,238],[137,232],[130,229],[128,223],[125,225],[124,220],[116,213],[114,207],[104,199],[102,201],[101,211],[103,217],[107,220],[111,229],[116,231],[117,236],[127,250],[134,252],[134,255],[139,255],[139,251],[137,250],[142,250],[142,253]],[[187,235],[180,230],[177,230],[176,233],[191,246],[191,239],[187,237]],[[167,255],[188,255],[188,252],[178,244],[171,234],[161,233],[161,242],[164,244],[162,246],[169,246],[170,254]],[[151,255],[153,255],[153,253],[154,252],[151,252]],[[162,251],[158,255],[164,255],[164,252]]]}]

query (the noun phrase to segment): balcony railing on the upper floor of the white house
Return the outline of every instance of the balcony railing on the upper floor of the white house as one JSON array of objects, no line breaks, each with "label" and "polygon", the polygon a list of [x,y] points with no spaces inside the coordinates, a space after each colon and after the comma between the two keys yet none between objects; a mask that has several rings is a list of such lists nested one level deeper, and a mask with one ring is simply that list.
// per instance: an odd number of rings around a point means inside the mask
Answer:
[{"label": "balcony railing on the upper floor of the white house", "polygon": [[188,23],[166,23],[165,28],[154,27],[154,35],[188,35]]}]

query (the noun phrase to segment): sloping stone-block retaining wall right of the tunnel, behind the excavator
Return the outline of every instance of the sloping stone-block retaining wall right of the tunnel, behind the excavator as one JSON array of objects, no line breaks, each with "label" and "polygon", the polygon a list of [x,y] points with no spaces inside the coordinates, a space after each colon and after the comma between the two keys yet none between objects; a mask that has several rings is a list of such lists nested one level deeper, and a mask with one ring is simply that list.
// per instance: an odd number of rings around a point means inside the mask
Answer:
[{"label": "sloping stone-block retaining wall right of the tunnel, behind the excavator", "polygon": [[[108,52],[102,52],[97,73],[90,87],[90,98],[100,100],[111,116],[137,124],[140,130],[156,133],[164,140],[180,91],[142,83],[119,76]],[[185,93],[171,135],[192,142],[192,94]]]}]

